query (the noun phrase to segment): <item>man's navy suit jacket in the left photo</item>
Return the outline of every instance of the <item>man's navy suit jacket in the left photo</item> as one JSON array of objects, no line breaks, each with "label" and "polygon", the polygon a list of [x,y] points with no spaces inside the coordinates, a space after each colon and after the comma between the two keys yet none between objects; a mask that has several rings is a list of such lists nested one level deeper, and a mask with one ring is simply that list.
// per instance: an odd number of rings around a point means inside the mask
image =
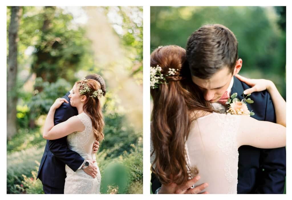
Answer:
[{"label": "man's navy suit jacket in the left photo", "polygon": [[[55,125],[78,114],[77,109],[70,104],[69,94],[70,92],[67,92],[67,94],[62,97],[69,103],[62,103],[55,111]],[[68,148],[67,136],[56,140],[47,140],[37,178],[39,178],[44,185],[63,189],[66,178],[65,165],[68,165],[73,171],[76,171],[83,162],[83,157]]]}]

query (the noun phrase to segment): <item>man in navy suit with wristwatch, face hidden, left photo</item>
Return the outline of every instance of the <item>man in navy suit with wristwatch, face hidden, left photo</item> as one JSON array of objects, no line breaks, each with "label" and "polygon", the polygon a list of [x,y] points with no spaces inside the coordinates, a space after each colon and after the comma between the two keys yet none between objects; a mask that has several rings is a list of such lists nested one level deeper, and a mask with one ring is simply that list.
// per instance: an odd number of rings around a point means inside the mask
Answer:
[{"label": "man in navy suit with wristwatch, face hidden, left photo", "polygon": [[[98,81],[105,95],[106,85],[101,76],[98,74],[90,74],[85,78]],[[67,92],[67,94],[62,97],[67,99],[69,103],[63,103],[56,110],[54,125],[66,121],[72,116],[78,115],[77,109],[70,105],[69,95],[70,92]],[[96,153],[98,148],[99,142],[95,141],[93,153]],[[93,160],[84,159],[77,152],[69,149],[67,146],[67,136],[56,140],[47,140],[36,178],[41,180],[45,194],[64,194],[66,178],[65,165],[68,165],[73,171],[84,170],[85,173],[95,178],[97,168],[93,165],[94,162]]]}]

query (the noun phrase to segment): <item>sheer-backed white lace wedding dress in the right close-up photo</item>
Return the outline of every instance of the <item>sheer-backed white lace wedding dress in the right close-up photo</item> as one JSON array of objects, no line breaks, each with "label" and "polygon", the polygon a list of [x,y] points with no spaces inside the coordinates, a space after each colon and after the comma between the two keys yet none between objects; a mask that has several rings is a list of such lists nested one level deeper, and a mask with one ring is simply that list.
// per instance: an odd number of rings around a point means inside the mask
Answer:
[{"label": "sheer-backed white lace wedding dress in the right close-up photo", "polygon": [[204,191],[209,194],[237,194],[239,120],[238,115],[213,112],[192,122],[185,159],[199,170],[195,187],[208,183]]}]

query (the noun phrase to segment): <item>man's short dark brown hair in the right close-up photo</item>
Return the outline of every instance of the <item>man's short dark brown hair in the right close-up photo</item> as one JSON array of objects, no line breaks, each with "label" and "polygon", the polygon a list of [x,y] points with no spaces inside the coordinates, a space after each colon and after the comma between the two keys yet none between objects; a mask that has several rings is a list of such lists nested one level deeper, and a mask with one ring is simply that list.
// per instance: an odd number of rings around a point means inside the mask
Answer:
[{"label": "man's short dark brown hair in the right close-up photo", "polygon": [[204,25],[188,38],[186,55],[192,76],[209,79],[226,66],[233,74],[238,59],[237,39],[223,25]]}]

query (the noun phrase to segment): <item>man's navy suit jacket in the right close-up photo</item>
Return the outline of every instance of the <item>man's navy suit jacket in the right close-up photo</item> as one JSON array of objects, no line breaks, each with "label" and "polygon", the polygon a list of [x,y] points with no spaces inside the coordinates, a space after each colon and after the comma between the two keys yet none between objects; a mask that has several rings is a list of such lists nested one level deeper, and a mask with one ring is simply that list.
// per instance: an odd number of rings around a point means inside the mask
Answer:
[{"label": "man's navy suit jacket in the right close-up photo", "polygon": [[[231,94],[237,93],[243,99],[243,91],[250,88],[234,76]],[[247,104],[255,113],[251,116],[261,121],[276,122],[274,105],[270,94],[265,90],[254,92],[250,98],[254,103]],[[263,133],[265,134],[265,133]],[[275,133],[277,134],[277,133]],[[237,194],[283,194],[286,177],[286,149],[259,149],[244,145],[239,147]],[[161,183],[152,173],[152,192]],[[208,188],[207,188],[208,191]]]}]

